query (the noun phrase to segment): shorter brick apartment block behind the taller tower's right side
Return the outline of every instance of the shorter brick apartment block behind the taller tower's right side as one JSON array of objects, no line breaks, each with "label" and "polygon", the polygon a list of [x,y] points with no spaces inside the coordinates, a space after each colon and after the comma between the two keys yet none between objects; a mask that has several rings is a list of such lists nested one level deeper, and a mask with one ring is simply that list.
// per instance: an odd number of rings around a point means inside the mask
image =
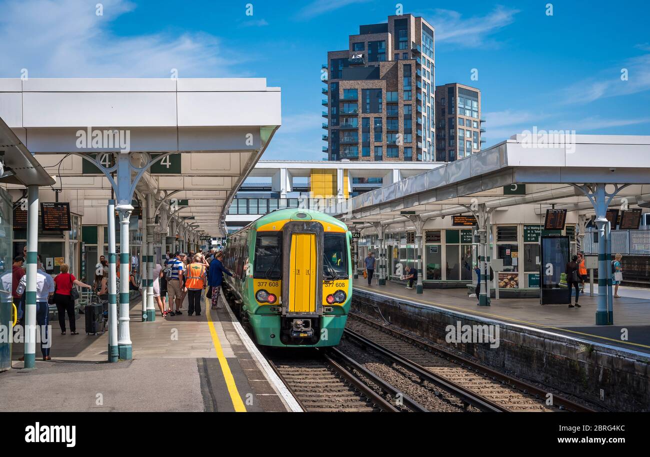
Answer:
[{"label": "shorter brick apartment block behind the taller tower's right side", "polygon": [[481,149],[481,91],[452,82],[435,88],[435,160],[453,162]]}]

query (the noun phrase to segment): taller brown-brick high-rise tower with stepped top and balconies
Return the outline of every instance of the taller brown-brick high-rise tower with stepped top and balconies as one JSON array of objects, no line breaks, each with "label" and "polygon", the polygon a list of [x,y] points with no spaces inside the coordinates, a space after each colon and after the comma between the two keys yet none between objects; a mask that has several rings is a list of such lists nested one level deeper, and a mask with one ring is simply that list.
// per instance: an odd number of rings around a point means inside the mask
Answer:
[{"label": "taller brown-brick high-rise tower with stepped top and balconies", "polygon": [[434,28],[410,14],[361,25],[328,52],[329,160],[435,160]]}]

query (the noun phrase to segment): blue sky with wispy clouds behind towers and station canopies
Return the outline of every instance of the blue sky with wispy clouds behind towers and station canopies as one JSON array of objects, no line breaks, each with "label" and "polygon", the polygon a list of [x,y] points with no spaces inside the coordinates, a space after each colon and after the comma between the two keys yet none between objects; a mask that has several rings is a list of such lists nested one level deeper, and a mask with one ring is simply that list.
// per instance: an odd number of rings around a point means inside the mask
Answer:
[{"label": "blue sky with wispy clouds behind towers and station canopies", "polygon": [[[0,0],[0,77],[266,77],[283,125],[264,158],[321,160],[320,65],[396,3]],[[486,146],[534,126],[650,134],[647,3],[401,3],[435,27],[435,83],[482,90]]]}]

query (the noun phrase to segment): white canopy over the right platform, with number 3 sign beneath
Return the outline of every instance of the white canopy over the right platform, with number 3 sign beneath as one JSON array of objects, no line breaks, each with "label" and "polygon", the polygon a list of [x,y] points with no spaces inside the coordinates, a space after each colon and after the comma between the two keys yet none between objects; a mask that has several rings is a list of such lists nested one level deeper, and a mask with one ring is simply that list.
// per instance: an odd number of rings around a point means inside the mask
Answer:
[{"label": "white canopy over the right platform, with number 3 sign beneath", "polygon": [[[650,136],[573,135],[535,143],[515,135],[478,154],[363,193],[328,210],[346,223],[393,223],[407,217],[470,214],[466,206],[591,206],[573,184],[632,184],[612,205],[650,200]],[[625,199],[625,200],[623,200]],[[465,205],[465,206],[461,206]],[[541,206],[543,209],[543,206]]]}]

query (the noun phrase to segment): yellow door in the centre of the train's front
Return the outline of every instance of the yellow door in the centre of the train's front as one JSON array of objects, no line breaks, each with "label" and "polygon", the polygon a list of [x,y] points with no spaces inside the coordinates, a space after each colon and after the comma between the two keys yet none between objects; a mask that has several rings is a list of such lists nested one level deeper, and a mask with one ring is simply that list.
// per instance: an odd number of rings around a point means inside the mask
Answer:
[{"label": "yellow door in the centre of the train's front", "polygon": [[291,235],[289,312],[316,312],[316,234]]}]

